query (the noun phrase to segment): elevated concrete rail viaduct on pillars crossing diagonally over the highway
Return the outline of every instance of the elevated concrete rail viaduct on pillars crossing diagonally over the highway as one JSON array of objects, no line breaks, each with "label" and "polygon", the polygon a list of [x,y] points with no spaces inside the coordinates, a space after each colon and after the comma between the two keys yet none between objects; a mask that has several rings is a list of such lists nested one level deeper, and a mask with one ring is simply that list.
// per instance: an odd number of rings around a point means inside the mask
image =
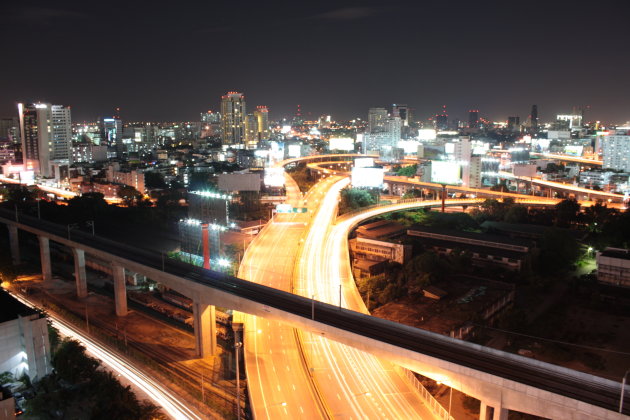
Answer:
[{"label": "elevated concrete rail viaduct on pillars crossing diagonally over the highway", "polygon": [[474,390],[494,419],[507,410],[557,419],[622,419],[617,412],[621,384],[593,375],[482,347],[355,311],[317,302],[222,273],[164,259],[157,252],[70,231],[66,226],[0,210],[9,230],[11,252],[19,262],[18,231],[37,235],[44,282],[51,280],[49,241],[70,247],[75,258],[77,296],[87,295],[85,253],[110,261],[114,271],[116,314],[124,316],[124,269],[143,274],[194,302],[198,353],[207,356],[214,344],[213,305],[277,320],[372,353],[456,389]]}]

